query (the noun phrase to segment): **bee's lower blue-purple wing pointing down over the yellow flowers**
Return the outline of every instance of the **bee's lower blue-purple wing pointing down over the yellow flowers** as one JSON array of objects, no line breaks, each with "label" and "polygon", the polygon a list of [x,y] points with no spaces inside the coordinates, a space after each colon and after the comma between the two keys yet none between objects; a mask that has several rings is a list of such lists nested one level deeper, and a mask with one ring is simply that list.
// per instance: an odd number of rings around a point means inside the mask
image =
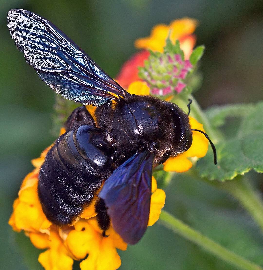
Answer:
[{"label": "bee's lower blue-purple wing pointing down over the yellow flowers", "polygon": [[146,231],[154,154],[134,154],[113,171],[99,197],[105,200],[114,230],[128,244],[136,244]]}]

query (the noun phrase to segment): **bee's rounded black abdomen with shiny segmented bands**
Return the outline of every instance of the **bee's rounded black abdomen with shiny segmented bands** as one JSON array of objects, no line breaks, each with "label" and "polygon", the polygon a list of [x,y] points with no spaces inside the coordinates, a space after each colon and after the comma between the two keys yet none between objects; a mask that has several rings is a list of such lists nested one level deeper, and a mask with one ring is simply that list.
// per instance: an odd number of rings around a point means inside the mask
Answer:
[{"label": "bee's rounded black abdomen with shiny segmented bands", "polygon": [[70,224],[110,173],[110,146],[102,130],[83,125],[60,136],[39,173],[38,193],[47,218]]}]

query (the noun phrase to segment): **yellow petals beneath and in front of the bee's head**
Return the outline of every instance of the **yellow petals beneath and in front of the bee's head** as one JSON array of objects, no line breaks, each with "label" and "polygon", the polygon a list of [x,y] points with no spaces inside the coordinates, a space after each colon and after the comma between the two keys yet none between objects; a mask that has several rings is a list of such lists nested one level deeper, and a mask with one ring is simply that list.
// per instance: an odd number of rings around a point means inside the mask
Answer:
[{"label": "yellow petals beneath and in front of the bee's head", "polygon": [[[193,117],[189,117],[190,126],[192,129],[199,129],[205,132],[203,125],[198,123]],[[171,157],[164,163],[165,171],[175,171],[182,173],[188,171],[192,166],[192,162],[189,157],[204,157],[208,150],[208,140],[203,134],[197,131],[192,131],[193,143],[191,147],[183,154],[177,157]]]}]

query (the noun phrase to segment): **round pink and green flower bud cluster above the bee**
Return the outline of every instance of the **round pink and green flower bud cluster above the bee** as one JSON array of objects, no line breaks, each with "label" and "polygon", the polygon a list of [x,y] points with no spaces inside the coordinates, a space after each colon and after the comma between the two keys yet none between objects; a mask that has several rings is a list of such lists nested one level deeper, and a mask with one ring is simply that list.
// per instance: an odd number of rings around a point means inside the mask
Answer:
[{"label": "round pink and green flower bud cluster above the bee", "polygon": [[186,84],[184,79],[192,70],[189,60],[182,60],[178,54],[150,55],[139,68],[139,76],[147,82],[154,95],[165,96],[172,92],[181,93]]}]

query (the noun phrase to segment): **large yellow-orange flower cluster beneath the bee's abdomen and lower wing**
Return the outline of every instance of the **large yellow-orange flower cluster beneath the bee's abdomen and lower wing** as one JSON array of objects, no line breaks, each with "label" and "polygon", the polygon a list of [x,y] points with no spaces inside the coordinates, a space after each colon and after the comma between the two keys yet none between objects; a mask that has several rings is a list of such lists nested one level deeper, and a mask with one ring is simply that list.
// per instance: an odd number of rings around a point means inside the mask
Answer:
[{"label": "large yellow-orange flower cluster beneath the bee's abdomen and lower wing", "polygon": [[[144,88],[144,85],[138,87]],[[88,107],[88,110],[94,108]],[[63,132],[65,130],[61,129],[61,134]],[[39,158],[32,160],[36,168],[23,180],[8,223],[14,231],[23,230],[36,248],[47,249],[38,258],[46,270],[71,270],[74,259],[82,260],[81,270],[119,268],[121,261],[116,249],[126,250],[127,244],[112,227],[107,230],[109,237],[102,236],[95,217],[95,198],[71,225],[58,228],[45,217],[37,195],[37,181],[40,167],[50,147]],[[164,201],[165,193],[157,188],[153,177],[148,226],[158,220]]]}]

